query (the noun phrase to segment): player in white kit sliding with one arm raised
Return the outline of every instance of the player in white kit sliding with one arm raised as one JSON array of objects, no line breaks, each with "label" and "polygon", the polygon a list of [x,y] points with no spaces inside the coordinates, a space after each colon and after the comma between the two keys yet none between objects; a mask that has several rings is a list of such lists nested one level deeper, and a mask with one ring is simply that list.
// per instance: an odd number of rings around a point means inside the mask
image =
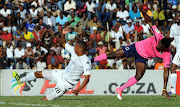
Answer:
[{"label": "player in white kit sliding with one arm raised", "polygon": [[17,72],[13,71],[13,77],[17,79],[18,83],[32,81],[36,78],[44,78],[56,82],[56,86],[53,88],[51,93],[42,99],[43,101],[54,100],[62,96],[68,90],[73,89],[79,82],[82,74],[84,74],[85,79],[77,90],[73,90],[73,93],[78,95],[78,93],[89,82],[91,61],[85,54],[87,46],[83,41],[77,41],[74,47],[65,43],[65,34],[68,32],[69,29],[66,28],[61,34],[61,45],[71,54],[71,60],[64,71],[58,69],[52,71],[36,71],[28,73],[22,78],[19,77]]}]

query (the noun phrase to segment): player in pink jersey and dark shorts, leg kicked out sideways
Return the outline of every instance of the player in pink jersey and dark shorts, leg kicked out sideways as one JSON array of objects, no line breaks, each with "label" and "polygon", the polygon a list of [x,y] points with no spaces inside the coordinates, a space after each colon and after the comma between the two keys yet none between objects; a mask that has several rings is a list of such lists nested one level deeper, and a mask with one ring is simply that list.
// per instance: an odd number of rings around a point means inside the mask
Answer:
[{"label": "player in pink jersey and dark shorts, leg kicked out sideways", "polygon": [[94,59],[92,62],[102,61],[106,59],[115,59],[115,58],[124,58],[124,57],[134,57],[136,63],[136,75],[131,77],[124,85],[116,89],[117,98],[122,99],[122,91],[135,83],[137,83],[144,75],[146,71],[146,62],[148,59],[152,59],[153,57],[160,57],[164,60],[164,89],[162,95],[166,95],[168,99],[170,99],[166,86],[168,82],[169,76],[169,67],[171,61],[171,53],[170,53],[170,38],[164,38],[157,27],[152,25],[151,18],[147,16],[147,14],[141,9],[143,16],[151,27],[151,31],[154,33],[153,37],[147,38],[145,40],[136,42],[132,45],[122,46],[121,49],[116,52],[112,52],[109,54],[102,54]]}]

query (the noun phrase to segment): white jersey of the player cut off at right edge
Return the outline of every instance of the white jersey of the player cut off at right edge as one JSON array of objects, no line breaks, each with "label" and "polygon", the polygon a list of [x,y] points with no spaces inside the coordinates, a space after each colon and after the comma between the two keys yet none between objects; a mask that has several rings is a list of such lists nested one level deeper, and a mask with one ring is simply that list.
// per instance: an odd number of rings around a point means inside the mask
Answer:
[{"label": "white jersey of the player cut off at right edge", "polygon": [[180,51],[180,26],[173,24],[170,29],[170,37],[174,37],[177,51]]}]

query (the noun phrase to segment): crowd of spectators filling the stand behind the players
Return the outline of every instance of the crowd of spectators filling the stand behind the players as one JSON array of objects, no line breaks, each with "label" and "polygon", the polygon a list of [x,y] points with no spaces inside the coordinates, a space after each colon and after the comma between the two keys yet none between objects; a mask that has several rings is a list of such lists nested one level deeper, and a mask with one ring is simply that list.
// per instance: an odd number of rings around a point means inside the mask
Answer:
[{"label": "crowd of spectators filling the stand behind the players", "polygon": [[[147,39],[153,34],[138,2],[168,36],[180,11],[179,0],[0,0],[0,68],[64,69],[68,60],[61,57],[60,41],[65,27],[70,29],[66,41],[86,42],[90,59]],[[147,65],[162,69],[162,63],[154,58]],[[128,68],[135,68],[134,58],[92,64],[92,69]]]}]

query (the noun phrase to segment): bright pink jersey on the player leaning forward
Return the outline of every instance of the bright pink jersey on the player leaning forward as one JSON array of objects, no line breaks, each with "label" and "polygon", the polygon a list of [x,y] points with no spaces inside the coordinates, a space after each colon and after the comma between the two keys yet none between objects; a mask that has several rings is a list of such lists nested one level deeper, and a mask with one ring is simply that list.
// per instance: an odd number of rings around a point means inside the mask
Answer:
[{"label": "bright pink jersey on the player leaning forward", "polygon": [[146,59],[152,59],[153,57],[163,58],[164,67],[170,67],[170,48],[165,49],[163,53],[157,51],[156,46],[158,42],[163,39],[163,36],[155,25],[152,27],[152,31],[155,36],[135,43],[137,53]]}]

